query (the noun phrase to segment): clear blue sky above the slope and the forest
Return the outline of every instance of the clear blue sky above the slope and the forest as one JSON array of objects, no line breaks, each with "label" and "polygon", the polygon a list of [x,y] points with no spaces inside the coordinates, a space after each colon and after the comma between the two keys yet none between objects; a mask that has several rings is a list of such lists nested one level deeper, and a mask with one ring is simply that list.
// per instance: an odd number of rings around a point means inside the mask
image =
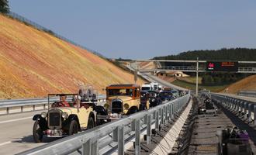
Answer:
[{"label": "clear blue sky above the slope and the forest", "polygon": [[110,58],[256,47],[254,0],[9,0],[9,5]]}]

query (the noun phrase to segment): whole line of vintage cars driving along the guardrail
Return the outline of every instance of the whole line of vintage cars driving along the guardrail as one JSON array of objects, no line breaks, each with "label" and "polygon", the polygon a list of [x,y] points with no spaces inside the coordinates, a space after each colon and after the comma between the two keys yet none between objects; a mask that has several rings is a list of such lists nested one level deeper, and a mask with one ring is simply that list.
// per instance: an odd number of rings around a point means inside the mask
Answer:
[{"label": "whole line of vintage cars driving along the guardrail", "polygon": [[[157,83],[144,84],[142,91],[137,84],[112,84],[106,88],[105,105],[98,105],[97,94],[92,88],[80,89],[78,94],[50,94],[47,112],[33,116],[33,139],[40,143],[43,136],[70,136],[123,115],[161,105],[179,95],[161,88]],[[52,98],[59,99],[52,103]]]}]

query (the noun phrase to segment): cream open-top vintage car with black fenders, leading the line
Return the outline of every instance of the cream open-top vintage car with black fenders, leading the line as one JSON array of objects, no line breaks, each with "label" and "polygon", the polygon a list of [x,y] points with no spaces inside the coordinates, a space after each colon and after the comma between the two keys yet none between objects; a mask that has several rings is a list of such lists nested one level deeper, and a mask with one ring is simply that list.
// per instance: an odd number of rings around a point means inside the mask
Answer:
[{"label": "cream open-top vintage car with black fenders, leading the line", "polygon": [[[60,98],[59,101],[50,104],[52,99],[57,98]],[[40,143],[44,135],[69,136],[108,122],[106,119],[97,119],[98,115],[107,115],[103,106],[84,102],[78,94],[50,94],[48,111],[33,116],[33,139]]]}]

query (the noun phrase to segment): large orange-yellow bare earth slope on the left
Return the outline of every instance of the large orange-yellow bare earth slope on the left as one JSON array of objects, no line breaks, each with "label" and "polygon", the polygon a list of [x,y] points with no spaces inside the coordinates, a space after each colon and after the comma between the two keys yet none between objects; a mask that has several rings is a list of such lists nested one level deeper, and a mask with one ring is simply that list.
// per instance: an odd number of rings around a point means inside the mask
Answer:
[{"label": "large orange-yellow bare earth slope on the left", "polygon": [[48,33],[3,15],[0,27],[0,98],[77,92],[79,84],[103,92],[108,84],[133,83],[133,74]]}]

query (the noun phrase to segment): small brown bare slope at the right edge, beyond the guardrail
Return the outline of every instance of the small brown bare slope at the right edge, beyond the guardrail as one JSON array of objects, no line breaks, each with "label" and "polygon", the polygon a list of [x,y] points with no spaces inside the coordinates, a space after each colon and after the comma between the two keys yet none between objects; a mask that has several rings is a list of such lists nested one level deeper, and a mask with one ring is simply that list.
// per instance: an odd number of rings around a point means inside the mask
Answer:
[{"label": "small brown bare slope at the right edge, beyond the guardrail", "polygon": [[[228,93],[237,94],[238,91],[256,91],[256,75],[245,77],[244,79],[237,81],[234,84],[230,84]],[[223,91],[224,92],[224,91]]]}]

